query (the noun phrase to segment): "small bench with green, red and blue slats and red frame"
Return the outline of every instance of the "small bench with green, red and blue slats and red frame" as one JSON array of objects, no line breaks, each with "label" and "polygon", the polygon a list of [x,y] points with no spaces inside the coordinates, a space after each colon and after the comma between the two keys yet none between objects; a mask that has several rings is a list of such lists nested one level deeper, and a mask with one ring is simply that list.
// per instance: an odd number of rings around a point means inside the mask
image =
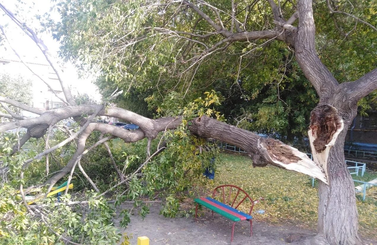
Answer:
[{"label": "small bench with green, red and blue slats and red frame", "polygon": [[[250,201],[251,206],[249,214],[237,210],[239,205],[241,205],[245,200]],[[253,217],[251,217],[251,212],[253,211],[254,202],[240,187],[233,185],[218,186],[215,188],[215,190],[213,190],[212,198],[201,197],[195,198],[194,201],[197,203],[195,208],[195,220],[198,216],[198,206],[202,205],[212,210],[212,218],[213,212],[216,212],[219,215],[233,221],[230,242],[233,241],[234,226],[238,221],[250,221],[250,236],[253,235]]]}]

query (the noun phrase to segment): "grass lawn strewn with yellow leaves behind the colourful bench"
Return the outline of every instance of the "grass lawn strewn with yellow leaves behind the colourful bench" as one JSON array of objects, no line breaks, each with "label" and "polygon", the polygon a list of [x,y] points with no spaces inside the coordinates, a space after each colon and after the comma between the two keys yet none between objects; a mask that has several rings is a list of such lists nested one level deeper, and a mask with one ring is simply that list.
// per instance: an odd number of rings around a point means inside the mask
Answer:
[{"label": "grass lawn strewn with yellow leaves behind the colourful bench", "polygon": [[[252,161],[239,154],[221,153],[219,160],[214,183],[208,184],[208,190],[220,184],[234,184],[244,189],[253,199],[266,199],[254,206],[254,211],[265,210],[264,215],[253,215],[256,220],[316,228],[318,191],[316,187],[311,187],[309,176],[274,166],[253,168]],[[377,177],[374,172],[367,172],[364,176],[364,181]],[[372,239],[377,239],[376,189],[367,191],[365,202],[360,201],[360,194],[357,195],[359,233]],[[241,209],[248,212],[250,205],[244,205]]]}]

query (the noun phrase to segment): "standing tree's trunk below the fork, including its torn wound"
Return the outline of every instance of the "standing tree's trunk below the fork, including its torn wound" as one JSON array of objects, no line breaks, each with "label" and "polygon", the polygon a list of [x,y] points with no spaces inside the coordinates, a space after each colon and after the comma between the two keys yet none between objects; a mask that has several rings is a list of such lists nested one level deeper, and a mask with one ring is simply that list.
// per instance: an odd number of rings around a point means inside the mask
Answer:
[{"label": "standing tree's trunk below the fork, including its torn wound", "polygon": [[[312,240],[313,245],[360,244],[357,234],[358,219],[355,187],[344,157],[344,141],[347,129],[356,116],[357,106],[352,99],[347,102],[338,100],[339,94],[343,93],[337,93],[329,99],[332,101],[326,102],[333,102],[331,104],[334,107],[331,108],[337,107],[340,110],[335,111],[336,114],[322,114],[322,133],[327,136],[327,141],[326,137],[323,137],[317,142],[314,140],[315,143],[313,144],[313,138],[311,139],[313,156],[318,158],[315,161],[321,161],[321,157],[326,158],[324,167],[326,167],[325,172],[329,182],[328,185],[319,182],[318,235]],[[319,115],[318,110],[323,110],[323,108],[330,107],[329,105],[319,105],[313,110],[309,134],[315,130],[321,131],[321,129],[317,128],[319,119],[314,115]],[[334,133],[337,128],[331,128],[332,125],[336,126],[336,122],[333,120],[336,117],[339,117],[343,122],[342,127],[338,125],[339,129],[342,128],[342,130],[337,135]],[[326,122],[330,123],[326,124]],[[333,131],[332,135],[329,133],[331,131]],[[333,141],[333,146],[329,143],[331,140]],[[322,151],[320,149],[321,143],[326,148],[322,148]]]}]

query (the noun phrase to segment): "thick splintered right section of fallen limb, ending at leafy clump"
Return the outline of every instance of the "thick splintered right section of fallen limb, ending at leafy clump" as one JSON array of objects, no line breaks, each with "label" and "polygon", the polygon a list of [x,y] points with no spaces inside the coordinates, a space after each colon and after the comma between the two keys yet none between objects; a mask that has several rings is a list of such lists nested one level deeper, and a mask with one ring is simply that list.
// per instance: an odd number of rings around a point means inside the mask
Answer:
[{"label": "thick splintered right section of fallen limb, ending at leafy clump", "polygon": [[250,131],[219,122],[206,116],[193,120],[189,127],[193,134],[203,138],[215,138],[244,149],[253,160],[253,166],[272,164],[284,169],[305,173],[327,183],[326,175],[319,164],[299,150],[279,140],[262,138]]}]

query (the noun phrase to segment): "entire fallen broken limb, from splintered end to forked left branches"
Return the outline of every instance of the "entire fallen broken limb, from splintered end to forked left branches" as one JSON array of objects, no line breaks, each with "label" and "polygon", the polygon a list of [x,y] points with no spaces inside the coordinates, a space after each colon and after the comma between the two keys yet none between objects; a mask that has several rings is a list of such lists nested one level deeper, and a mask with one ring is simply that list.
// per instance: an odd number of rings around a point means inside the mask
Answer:
[{"label": "entire fallen broken limb, from splintered end to forked left branches", "polygon": [[[113,116],[130,121],[139,125],[140,129],[127,131],[104,123],[89,123],[87,128],[80,134],[77,151],[72,159],[49,182],[56,183],[56,181],[70,172],[78,156],[84,151],[86,138],[94,130],[105,134],[112,134],[115,137],[122,138],[125,142],[136,142],[145,137],[155,138],[158,132],[166,129],[175,129],[181,123],[181,119],[179,118],[163,117],[153,120],[116,107],[104,110],[100,109],[97,105],[70,105],[46,111],[37,118],[0,124],[0,132],[18,128],[19,126],[29,128],[38,128],[38,126],[41,126],[45,128],[43,132],[45,134],[49,124],[55,124],[62,119],[80,116],[84,113],[93,114],[94,111],[98,111],[98,113],[95,113],[97,115]],[[279,140],[261,138],[250,131],[239,129],[205,116],[193,120],[193,125],[189,127],[189,130],[200,137],[215,138],[239,146],[248,152],[254,166],[273,164],[288,170],[305,173],[327,183],[325,172],[319,164],[314,163],[302,152],[285,145]]]}]

